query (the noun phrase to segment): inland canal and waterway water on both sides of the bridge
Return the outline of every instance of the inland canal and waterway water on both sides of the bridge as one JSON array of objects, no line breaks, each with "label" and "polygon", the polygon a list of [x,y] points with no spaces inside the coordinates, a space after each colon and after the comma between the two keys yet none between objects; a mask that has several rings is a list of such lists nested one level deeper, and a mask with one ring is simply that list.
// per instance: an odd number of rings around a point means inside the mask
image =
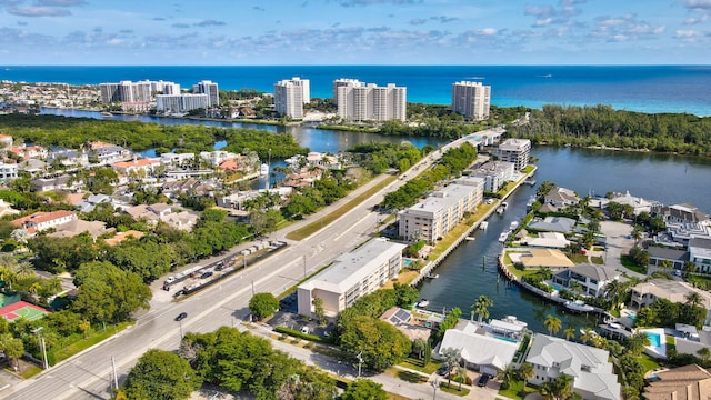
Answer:
[{"label": "inland canal and waterway water on both sides of the bridge", "polygon": [[[101,119],[99,112],[64,109],[43,109],[43,113],[68,117]],[[121,120],[167,124],[207,124],[224,128],[252,128],[272,132],[289,132],[297,141],[313,151],[338,152],[347,148],[370,141],[400,142],[403,138],[373,133],[341,132],[302,127],[274,127],[240,122],[197,121],[147,116],[117,116]],[[441,141],[429,138],[407,138],[421,148],[424,144],[438,146]],[[216,143],[216,148],[223,143]],[[555,182],[560,187],[572,189],[581,196],[604,194],[608,191],[624,192],[644,199],[658,200],[665,204],[689,202],[702,211],[711,212],[711,160],[705,158],[653,154],[647,152],[624,152],[611,150],[589,150],[571,148],[537,147],[532,154],[538,158],[538,171],[534,179]],[[277,166],[280,160],[272,160]],[[259,182],[263,187],[264,182]],[[464,241],[438,268],[440,278],[428,280],[420,286],[421,297],[430,301],[429,308],[435,311],[459,307],[469,316],[471,304],[480,294],[493,300],[490,308],[492,318],[515,316],[529,323],[537,332],[545,332],[543,321],[548,314],[562,320],[562,330],[568,327],[593,327],[592,317],[563,313],[559,307],[531,296],[520,288],[509,284],[497,270],[497,256],[501,251],[499,234],[514,220],[525,214],[525,203],[535,193],[535,188],[522,186],[509,199],[509,208],[502,214],[489,219],[487,231],[474,233],[474,241]],[[475,318],[475,316],[474,316]]]}]

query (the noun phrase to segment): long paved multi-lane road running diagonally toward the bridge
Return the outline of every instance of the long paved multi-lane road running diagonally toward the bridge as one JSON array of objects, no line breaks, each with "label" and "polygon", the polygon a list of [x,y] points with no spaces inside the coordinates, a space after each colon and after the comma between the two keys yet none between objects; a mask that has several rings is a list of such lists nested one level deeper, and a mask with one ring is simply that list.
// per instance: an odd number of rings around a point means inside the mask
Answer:
[{"label": "long paved multi-lane road running diagonally toward the bridge", "polygon": [[[444,150],[460,143],[461,141],[457,141],[444,146],[441,151],[435,151],[434,154],[413,166],[410,169],[411,172],[403,176],[404,179],[393,182],[385,190],[341,216],[336,222],[298,243],[291,242],[293,244],[288,249],[246,271],[236,273],[220,284],[180,302],[172,302],[168,297],[157,294],[151,300],[151,310],[137,314],[134,327],[52,367],[33,379],[6,389],[0,392],[0,396],[7,399],[27,400],[109,399],[112,357],[116,359],[120,380],[123,380],[146,350],[177,349],[181,331],[211,332],[221,326],[233,324],[236,319],[244,319],[249,314],[247,304],[252,297],[252,290],[281,293],[304,277],[304,256],[306,273],[311,273],[330,263],[341,253],[370,239],[380,218],[377,212],[370,210],[382,201],[384,193],[404,184],[407,179],[415,176],[415,169],[418,171],[425,169]],[[351,197],[357,196],[361,190],[351,193]],[[322,213],[326,212],[328,210],[323,210]],[[297,227],[298,224],[292,226],[291,229]],[[272,239],[282,236],[283,232],[274,234]],[[237,250],[239,249],[234,251]],[[201,264],[209,262],[203,261]],[[153,284],[154,292],[160,291],[159,286],[160,282]],[[188,313],[188,318],[176,322],[174,317],[183,311]]]}]

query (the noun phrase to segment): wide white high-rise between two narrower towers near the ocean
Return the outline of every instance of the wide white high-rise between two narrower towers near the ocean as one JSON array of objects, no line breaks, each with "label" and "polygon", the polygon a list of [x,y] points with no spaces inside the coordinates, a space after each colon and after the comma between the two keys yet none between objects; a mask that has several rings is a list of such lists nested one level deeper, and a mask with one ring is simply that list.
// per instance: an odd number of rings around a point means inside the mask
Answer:
[{"label": "wide white high-rise between two narrower towers near the ocean", "polygon": [[379,87],[358,80],[333,82],[338,116],[350,121],[388,121],[407,118],[407,88],[388,83]]}]

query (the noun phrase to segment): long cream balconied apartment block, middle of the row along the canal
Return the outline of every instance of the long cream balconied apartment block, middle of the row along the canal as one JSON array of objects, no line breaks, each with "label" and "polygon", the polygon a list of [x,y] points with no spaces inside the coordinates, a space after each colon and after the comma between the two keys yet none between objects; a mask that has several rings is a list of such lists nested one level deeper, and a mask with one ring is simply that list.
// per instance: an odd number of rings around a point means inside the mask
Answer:
[{"label": "long cream balconied apartment block, middle of the row along the canal", "polygon": [[455,180],[419,203],[400,211],[399,236],[407,240],[439,240],[462,220],[464,212],[473,211],[481,203],[483,191],[483,178]]}]

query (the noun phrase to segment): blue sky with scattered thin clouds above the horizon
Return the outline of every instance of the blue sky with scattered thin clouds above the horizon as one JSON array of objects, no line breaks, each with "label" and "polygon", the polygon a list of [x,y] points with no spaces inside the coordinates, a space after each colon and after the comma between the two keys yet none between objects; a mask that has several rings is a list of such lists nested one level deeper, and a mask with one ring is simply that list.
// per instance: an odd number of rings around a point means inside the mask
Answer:
[{"label": "blue sky with scattered thin clouds above the horizon", "polygon": [[711,0],[0,0],[1,64],[708,64]]}]

